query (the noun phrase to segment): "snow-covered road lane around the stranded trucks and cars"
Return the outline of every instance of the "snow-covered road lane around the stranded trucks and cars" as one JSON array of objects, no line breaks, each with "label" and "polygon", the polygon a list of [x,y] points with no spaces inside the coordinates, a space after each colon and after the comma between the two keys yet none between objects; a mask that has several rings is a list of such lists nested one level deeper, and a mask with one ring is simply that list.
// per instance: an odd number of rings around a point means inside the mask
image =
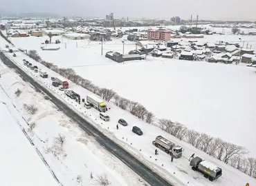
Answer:
[{"label": "snow-covered road lane around the stranded trucks and cars", "polygon": [[[107,112],[111,118],[111,121],[108,123],[100,121],[98,112],[96,110],[86,110],[84,107],[82,107],[82,105],[78,105],[75,103],[75,101],[68,99],[63,92],[60,92],[57,89],[57,87],[53,87],[51,85],[51,79],[41,79],[38,74],[31,72],[28,70],[28,68],[24,67],[22,62],[22,59],[24,58],[26,58],[24,54],[18,54],[16,59],[10,57],[10,59],[15,61],[17,65],[24,68],[28,74],[34,76],[36,81],[42,82],[42,84],[44,83],[46,87],[52,90],[52,92],[55,92],[56,96],[65,101],[69,106],[73,107],[74,110],[79,110],[81,114],[84,114],[87,119],[91,120],[93,125],[102,130],[102,132],[109,136],[109,138],[112,138],[114,141],[120,143],[122,147],[125,147],[125,149],[127,149],[129,152],[136,154],[141,161],[144,161],[147,165],[156,169],[163,176],[165,176],[165,178],[171,180],[172,182],[180,184],[183,183],[183,185],[244,185],[247,182],[250,184],[256,184],[255,179],[250,178],[246,174],[239,172],[237,169],[234,169],[229,165],[208,156],[208,154],[205,154],[199,149],[192,147],[192,145],[188,145],[188,143],[185,143],[184,141],[179,141],[177,138],[167,134],[167,132],[163,132],[158,127],[138,120],[138,118],[131,116],[129,112],[120,110],[120,108],[116,107],[112,103],[108,103],[111,110]],[[42,66],[42,64],[37,63],[32,59],[28,60],[37,64],[39,68],[46,69],[44,66]],[[51,70],[47,71],[50,76],[57,76],[55,72]],[[87,94],[91,94],[91,92],[88,90],[84,90],[84,88],[75,85],[72,82],[70,82],[70,86],[72,90],[80,93],[82,97],[85,97]],[[119,130],[116,130],[116,124],[119,118],[125,118],[125,120],[127,120],[129,123],[128,127],[120,127]],[[143,136],[137,136],[131,132],[131,127],[133,125],[137,125],[143,130]],[[154,155],[155,147],[152,145],[152,141],[157,135],[165,136],[170,141],[182,145],[185,148],[183,157],[175,159],[173,163],[170,163],[170,156],[165,154],[165,152],[160,151],[159,155]],[[189,157],[193,153],[195,153],[196,156],[207,159],[208,161],[211,161],[217,166],[221,167],[223,169],[223,176],[211,183],[209,180],[203,178],[203,175],[193,172],[188,161]]]}]

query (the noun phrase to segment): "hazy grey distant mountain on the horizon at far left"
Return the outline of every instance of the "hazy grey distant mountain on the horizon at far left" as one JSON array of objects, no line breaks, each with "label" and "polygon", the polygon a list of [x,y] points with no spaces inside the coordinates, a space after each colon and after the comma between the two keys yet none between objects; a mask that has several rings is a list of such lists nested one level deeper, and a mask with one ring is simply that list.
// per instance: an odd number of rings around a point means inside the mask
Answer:
[{"label": "hazy grey distant mountain on the horizon at far left", "polygon": [[8,10],[0,8],[0,15],[3,17],[61,17],[59,14],[48,12],[26,12],[15,14]]}]

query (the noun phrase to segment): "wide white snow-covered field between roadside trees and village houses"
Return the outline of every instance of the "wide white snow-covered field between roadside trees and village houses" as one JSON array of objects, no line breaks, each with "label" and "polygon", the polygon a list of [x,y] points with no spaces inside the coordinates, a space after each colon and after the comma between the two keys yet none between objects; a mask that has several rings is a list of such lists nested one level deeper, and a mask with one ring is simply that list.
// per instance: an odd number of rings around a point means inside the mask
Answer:
[{"label": "wide white snow-covered field between roadside trees and village houses", "polygon": [[[235,42],[239,38],[250,41],[256,49],[253,36],[210,35],[199,41]],[[100,55],[100,42],[63,39],[61,49],[51,52],[39,49],[46,39],[28,37],[11,41],[26,50],[37,50],[48,62],[73,68],[95,85],[112,88],[121,96],[142,103],[158,118],[170,118],[199,132],[242,145],[256,156],[253,143],[256,136],[253,130],[248,130],[256,122],[253,114],[256,105],[252,101],[256,92],[253,68],[150,56],[147,61],[118,64]],[[125,53],[135,48],[134,43],[125,42]],[[106,42],[103,49],[104,53],[109,50],[122,53],[122,42],[118,39]]]}]

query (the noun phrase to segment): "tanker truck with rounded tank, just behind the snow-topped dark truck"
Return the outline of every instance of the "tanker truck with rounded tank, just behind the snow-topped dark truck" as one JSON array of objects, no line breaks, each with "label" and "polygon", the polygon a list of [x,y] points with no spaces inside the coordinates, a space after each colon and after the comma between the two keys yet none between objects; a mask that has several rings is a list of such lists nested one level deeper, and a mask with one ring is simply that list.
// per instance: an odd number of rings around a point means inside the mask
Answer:
[{"label": "tanker truck with rounded tank, just behind the snow-topped dark truck", "polygon": [[172,143],[163,136],[156,136],[156,139],[152,141],[152,143],[175,158],[180,158],[182,156],[182,152],[184,151],[183,147],[175,145],[175,143]]}]

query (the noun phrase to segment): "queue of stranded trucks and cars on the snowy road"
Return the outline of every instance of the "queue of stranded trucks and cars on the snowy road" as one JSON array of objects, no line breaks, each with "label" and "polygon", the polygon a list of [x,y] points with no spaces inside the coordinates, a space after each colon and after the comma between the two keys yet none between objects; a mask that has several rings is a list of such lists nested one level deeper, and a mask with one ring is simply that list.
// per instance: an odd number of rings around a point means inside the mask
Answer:
[{"label": "queue of stranded trucks and cars on the snowy road", "polygon": [[[29,63],[28,61],[26,61],[26,59],[23,59],[23,61],[24,61],[24,65],[30,68],[30,70],[33,70],[34,72],[38,72],[37,65],[33,65],[32,63]],[[39,70],[39,74],[43,78],[48,78],[48,73],[44,72],[42,69]],[[64,93],[67,96],[71,97],[71,99],[77,99],[77,98],[80,99],[79,94],[73,92],[73,90],[68,89],[69,87],[68,81],[66,81],[65,79],[62,79],[62,77],[52,76],[51,80],[53,81],[52,85],[54,87],[59,87],[59,90],[61,91],[65,90]],[[94,107],[96,110],[98,110],[100,112],[100,118],[103,121],[110,121],[109,115],[105,113],[107,112],[108,109],[104,101],[102,101],[101,99],[98,99],[98,97],[95,97],[93,95],[87,95],[86,100],[84,100],[83,102],[84,102],[84,107],[86,107],[86,109],[90,109],[91,107]],[[125,119],[123,118],[120,118],[118,120],[118,123],[122,126],[128,126],[127,121],[125,121]],[[137,126],[132,127],[131,131],[137,134],[138,136],[143,135],[143,131],[140,130],[140,128]],[[155,147],[162,149],[167,154],[174,156],[175,158],[180,158],[182,156],[182,152],[184,151],[183,147],[176,145],[175,143],[172,143],[171,141],[167,140],[163,136],[156,136],[156,139],[152,141],[152,144]],[[195,158],[192,158],[192,160],[190,161],[190,166],[192,166],[192,169],[194,171],[201,172],[203,176],[205,178],[209,178],[210,181],[216,180],[222,175],[221,168],[217,167],[216,165],[208,161],[202,160],[198,156],[196,156]]]}]

